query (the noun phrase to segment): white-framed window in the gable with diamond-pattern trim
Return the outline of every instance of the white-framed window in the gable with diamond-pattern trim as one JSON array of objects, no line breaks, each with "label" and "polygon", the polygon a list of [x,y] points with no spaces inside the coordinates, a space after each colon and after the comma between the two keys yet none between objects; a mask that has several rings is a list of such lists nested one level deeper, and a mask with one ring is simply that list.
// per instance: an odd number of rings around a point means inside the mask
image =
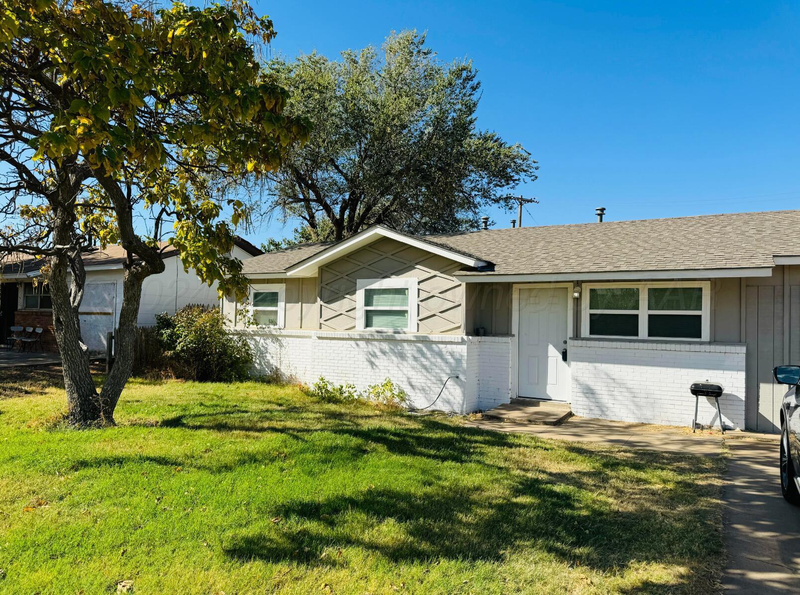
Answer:
[{"label": "white-framed window in the gable with diamond-pattern trim", "polygon": [[356,329],[417,330],[416,279],[359,279]]}]

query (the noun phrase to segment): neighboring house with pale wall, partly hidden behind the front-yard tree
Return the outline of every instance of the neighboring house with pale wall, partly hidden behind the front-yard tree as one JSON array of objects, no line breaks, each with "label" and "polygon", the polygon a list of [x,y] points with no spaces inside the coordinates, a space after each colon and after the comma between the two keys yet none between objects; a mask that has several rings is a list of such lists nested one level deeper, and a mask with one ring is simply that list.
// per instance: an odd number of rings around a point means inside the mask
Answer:
[{"label": "neighboring house with pale wall, partly hidden behind the front-yard tree", "polygon": [[[183,270],[178,250],[163,243],[165,270],[150,275],[142,284],[139,303],[139,325],[154,325],[158,313],[175,313],[186,304],[218,305],[217,286],[208,286],[194,271]],[[245,261],[263,254],[242,238],[237,238],[234,257]],[[92,351],[106,348],[106,335],[119,321],[122,306],[122,265],[126,260],[122,246],[94,249],[83,256],[86,286],[78,310],[83,341]],[[50,294],[43,283],[35,283],[42,261],[25,260],[7,263],[0,276],[0,325],[3,339],[12,325],[40,326],[47,329],[42,338],[45,349],[58,350],[53,335],[53,313]]]}]

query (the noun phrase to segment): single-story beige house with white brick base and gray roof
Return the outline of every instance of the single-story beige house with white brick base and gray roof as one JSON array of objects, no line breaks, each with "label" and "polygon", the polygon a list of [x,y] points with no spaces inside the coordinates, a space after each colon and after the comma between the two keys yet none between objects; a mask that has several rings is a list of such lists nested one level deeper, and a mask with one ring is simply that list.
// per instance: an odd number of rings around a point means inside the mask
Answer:
[{"label": "single-story beige house with white brick base and gray roof", "polygon": [[[251,314],[223,309],[255,367],[358,388],[390,377],[424,407],[515,397],[690,425],[694,381],[726,426],[777,431],[774,365],[800,361],[800,211],[412,237],[373,226],[251,258]],[[485,333],[485,336],[477,336]],[[698,422],[718,425],[713,401]]]}]

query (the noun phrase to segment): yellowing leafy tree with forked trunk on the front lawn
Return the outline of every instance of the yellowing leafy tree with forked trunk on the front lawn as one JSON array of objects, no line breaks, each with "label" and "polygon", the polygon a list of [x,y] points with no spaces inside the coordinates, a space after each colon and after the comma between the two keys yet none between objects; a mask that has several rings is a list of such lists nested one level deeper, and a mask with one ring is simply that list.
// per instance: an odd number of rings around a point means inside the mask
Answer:
[{"label": "yellowing leafy tree with forked trunk on the front lawn", "polygon": [[[0,4],[0,257],[45,259],[71,423],[114,423],[167,222],[184,266],[244,290],[229,254],[250,206],[234,190],[307,136],[257,60],[273,36],[242,0],[155,12],[114,0]],[[99,392],[78,320],[93,238],[127,253],[116,361]]]}]

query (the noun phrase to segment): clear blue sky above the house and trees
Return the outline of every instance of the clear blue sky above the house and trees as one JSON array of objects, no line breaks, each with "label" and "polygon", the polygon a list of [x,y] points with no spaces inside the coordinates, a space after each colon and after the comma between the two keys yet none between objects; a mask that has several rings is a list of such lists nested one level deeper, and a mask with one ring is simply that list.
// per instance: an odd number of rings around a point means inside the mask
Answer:
[{"label": "clear blue sky above the house and trees", "polygon": [[[265,2],[274,51],[335,56],[390,30],[471,58],[478,126],[541,166],[526,225],[800,208],[800,5]],[[489,213],[498,226],[512,214]],[[248,236],[290,235],[274,221]]]}]

